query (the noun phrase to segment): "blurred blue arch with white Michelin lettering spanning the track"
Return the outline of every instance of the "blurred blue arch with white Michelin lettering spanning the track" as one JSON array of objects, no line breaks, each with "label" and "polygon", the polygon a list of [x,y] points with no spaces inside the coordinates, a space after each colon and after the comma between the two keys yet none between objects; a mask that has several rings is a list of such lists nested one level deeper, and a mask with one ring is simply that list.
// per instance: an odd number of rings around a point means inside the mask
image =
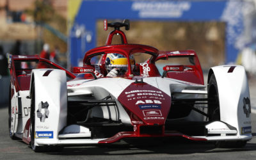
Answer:
[{"label": "blurred blue arch with white Michelin lettering spanning the track", "polygon": [[[69,33],[71,66],[89,49],[96,47],[96,22],[99,19],[211,21],[226,22],[225,63],[236,61],[243,44],[243,7],[246,1],[82,1]],[[249,4],[250,5],[250,4]],[[81,28],[90,33],[90,42],[77,36]],[[79,30],[80,29],[80,30]],[[83,32],[82,29],[82,32]],[[81,34],[80,34],[81,35]],[[83,35],[83,34],[82,34]]]}]

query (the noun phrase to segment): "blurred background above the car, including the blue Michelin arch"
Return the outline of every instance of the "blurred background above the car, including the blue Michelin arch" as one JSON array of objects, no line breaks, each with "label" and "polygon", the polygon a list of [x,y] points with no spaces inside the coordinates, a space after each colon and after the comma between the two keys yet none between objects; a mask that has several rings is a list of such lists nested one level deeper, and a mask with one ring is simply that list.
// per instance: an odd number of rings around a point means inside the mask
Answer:
[{"label": "blurred background above the car, including the blue Michelin arch", "polygon": [[[48,52],[62,67],[82,66],[84,53],[104,45],[108,22],[130,19],[131,44],[159,51],[193,49],[202,68],[244,65],[256,74],[256,0],[0,0],[0,91],[9,87],[6,53]],[[6,89],[7,88],[7,89]],[[8,95],[8,94],[6,94]],[[6,97],[0,96],[0,103]]]}]

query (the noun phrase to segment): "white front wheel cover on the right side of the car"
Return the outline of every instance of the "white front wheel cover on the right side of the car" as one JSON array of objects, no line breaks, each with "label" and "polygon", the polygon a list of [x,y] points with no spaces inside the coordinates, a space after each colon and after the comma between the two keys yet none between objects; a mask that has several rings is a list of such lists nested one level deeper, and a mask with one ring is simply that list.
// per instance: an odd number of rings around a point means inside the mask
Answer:
[{"label": "white front wheel cover on the right side of the car", "polygon": [[[244,98],[250,99],[244,67],[236,66],[232,72],[228,72],[230,66],[218,66],[211,69],[218,84],[220,119],[222,122],[236,127],[237,134],[242,136],[242,134],[246,134],[243,129],[252,127],[251,114],[244,113],[243,100]],[[248,106],[245,108],[249,109]]]}]

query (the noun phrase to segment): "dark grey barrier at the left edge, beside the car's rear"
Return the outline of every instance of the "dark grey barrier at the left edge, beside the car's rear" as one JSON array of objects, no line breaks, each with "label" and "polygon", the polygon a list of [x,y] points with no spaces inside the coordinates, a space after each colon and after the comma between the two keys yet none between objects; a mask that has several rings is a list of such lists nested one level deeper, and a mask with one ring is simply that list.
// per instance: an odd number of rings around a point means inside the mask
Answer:
[{"label": "dark grey barrier at the left edge, beside the car's rear", "polygon": [[8,104],[10,77],[0,77],[0,104]]}]

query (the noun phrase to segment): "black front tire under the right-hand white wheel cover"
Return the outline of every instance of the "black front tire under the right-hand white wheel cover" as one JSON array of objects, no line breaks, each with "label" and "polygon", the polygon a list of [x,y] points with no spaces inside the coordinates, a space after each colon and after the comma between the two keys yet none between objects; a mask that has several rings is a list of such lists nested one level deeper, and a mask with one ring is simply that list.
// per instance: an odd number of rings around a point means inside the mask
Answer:
[{"label": "black front tire under the right-hand white wheel cover", "polygon": [[[209,79],[208,86],[208,115],[209,122],[220,121],[220,101],[218,94],[218,85],[216,77],[214,74],[211,75]],[[218,148],[243,148],[246,145],[247,141],[216,141],[214,143],[215,147]]]}]

